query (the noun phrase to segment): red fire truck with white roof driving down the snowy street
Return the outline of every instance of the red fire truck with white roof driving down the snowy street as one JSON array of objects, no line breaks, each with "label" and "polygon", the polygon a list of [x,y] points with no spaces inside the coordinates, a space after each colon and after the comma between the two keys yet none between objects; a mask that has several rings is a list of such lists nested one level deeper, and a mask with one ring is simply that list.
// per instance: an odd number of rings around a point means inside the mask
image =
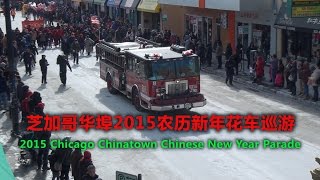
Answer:
[{"label": "red fire truck with white roof driving down the snowy street", "polygon": [[100,77],[110,93],[121,92],[138,111],[171,111],[206,105],[200,94],[199,57],[181,46],[146,41],[97,45]]}]

